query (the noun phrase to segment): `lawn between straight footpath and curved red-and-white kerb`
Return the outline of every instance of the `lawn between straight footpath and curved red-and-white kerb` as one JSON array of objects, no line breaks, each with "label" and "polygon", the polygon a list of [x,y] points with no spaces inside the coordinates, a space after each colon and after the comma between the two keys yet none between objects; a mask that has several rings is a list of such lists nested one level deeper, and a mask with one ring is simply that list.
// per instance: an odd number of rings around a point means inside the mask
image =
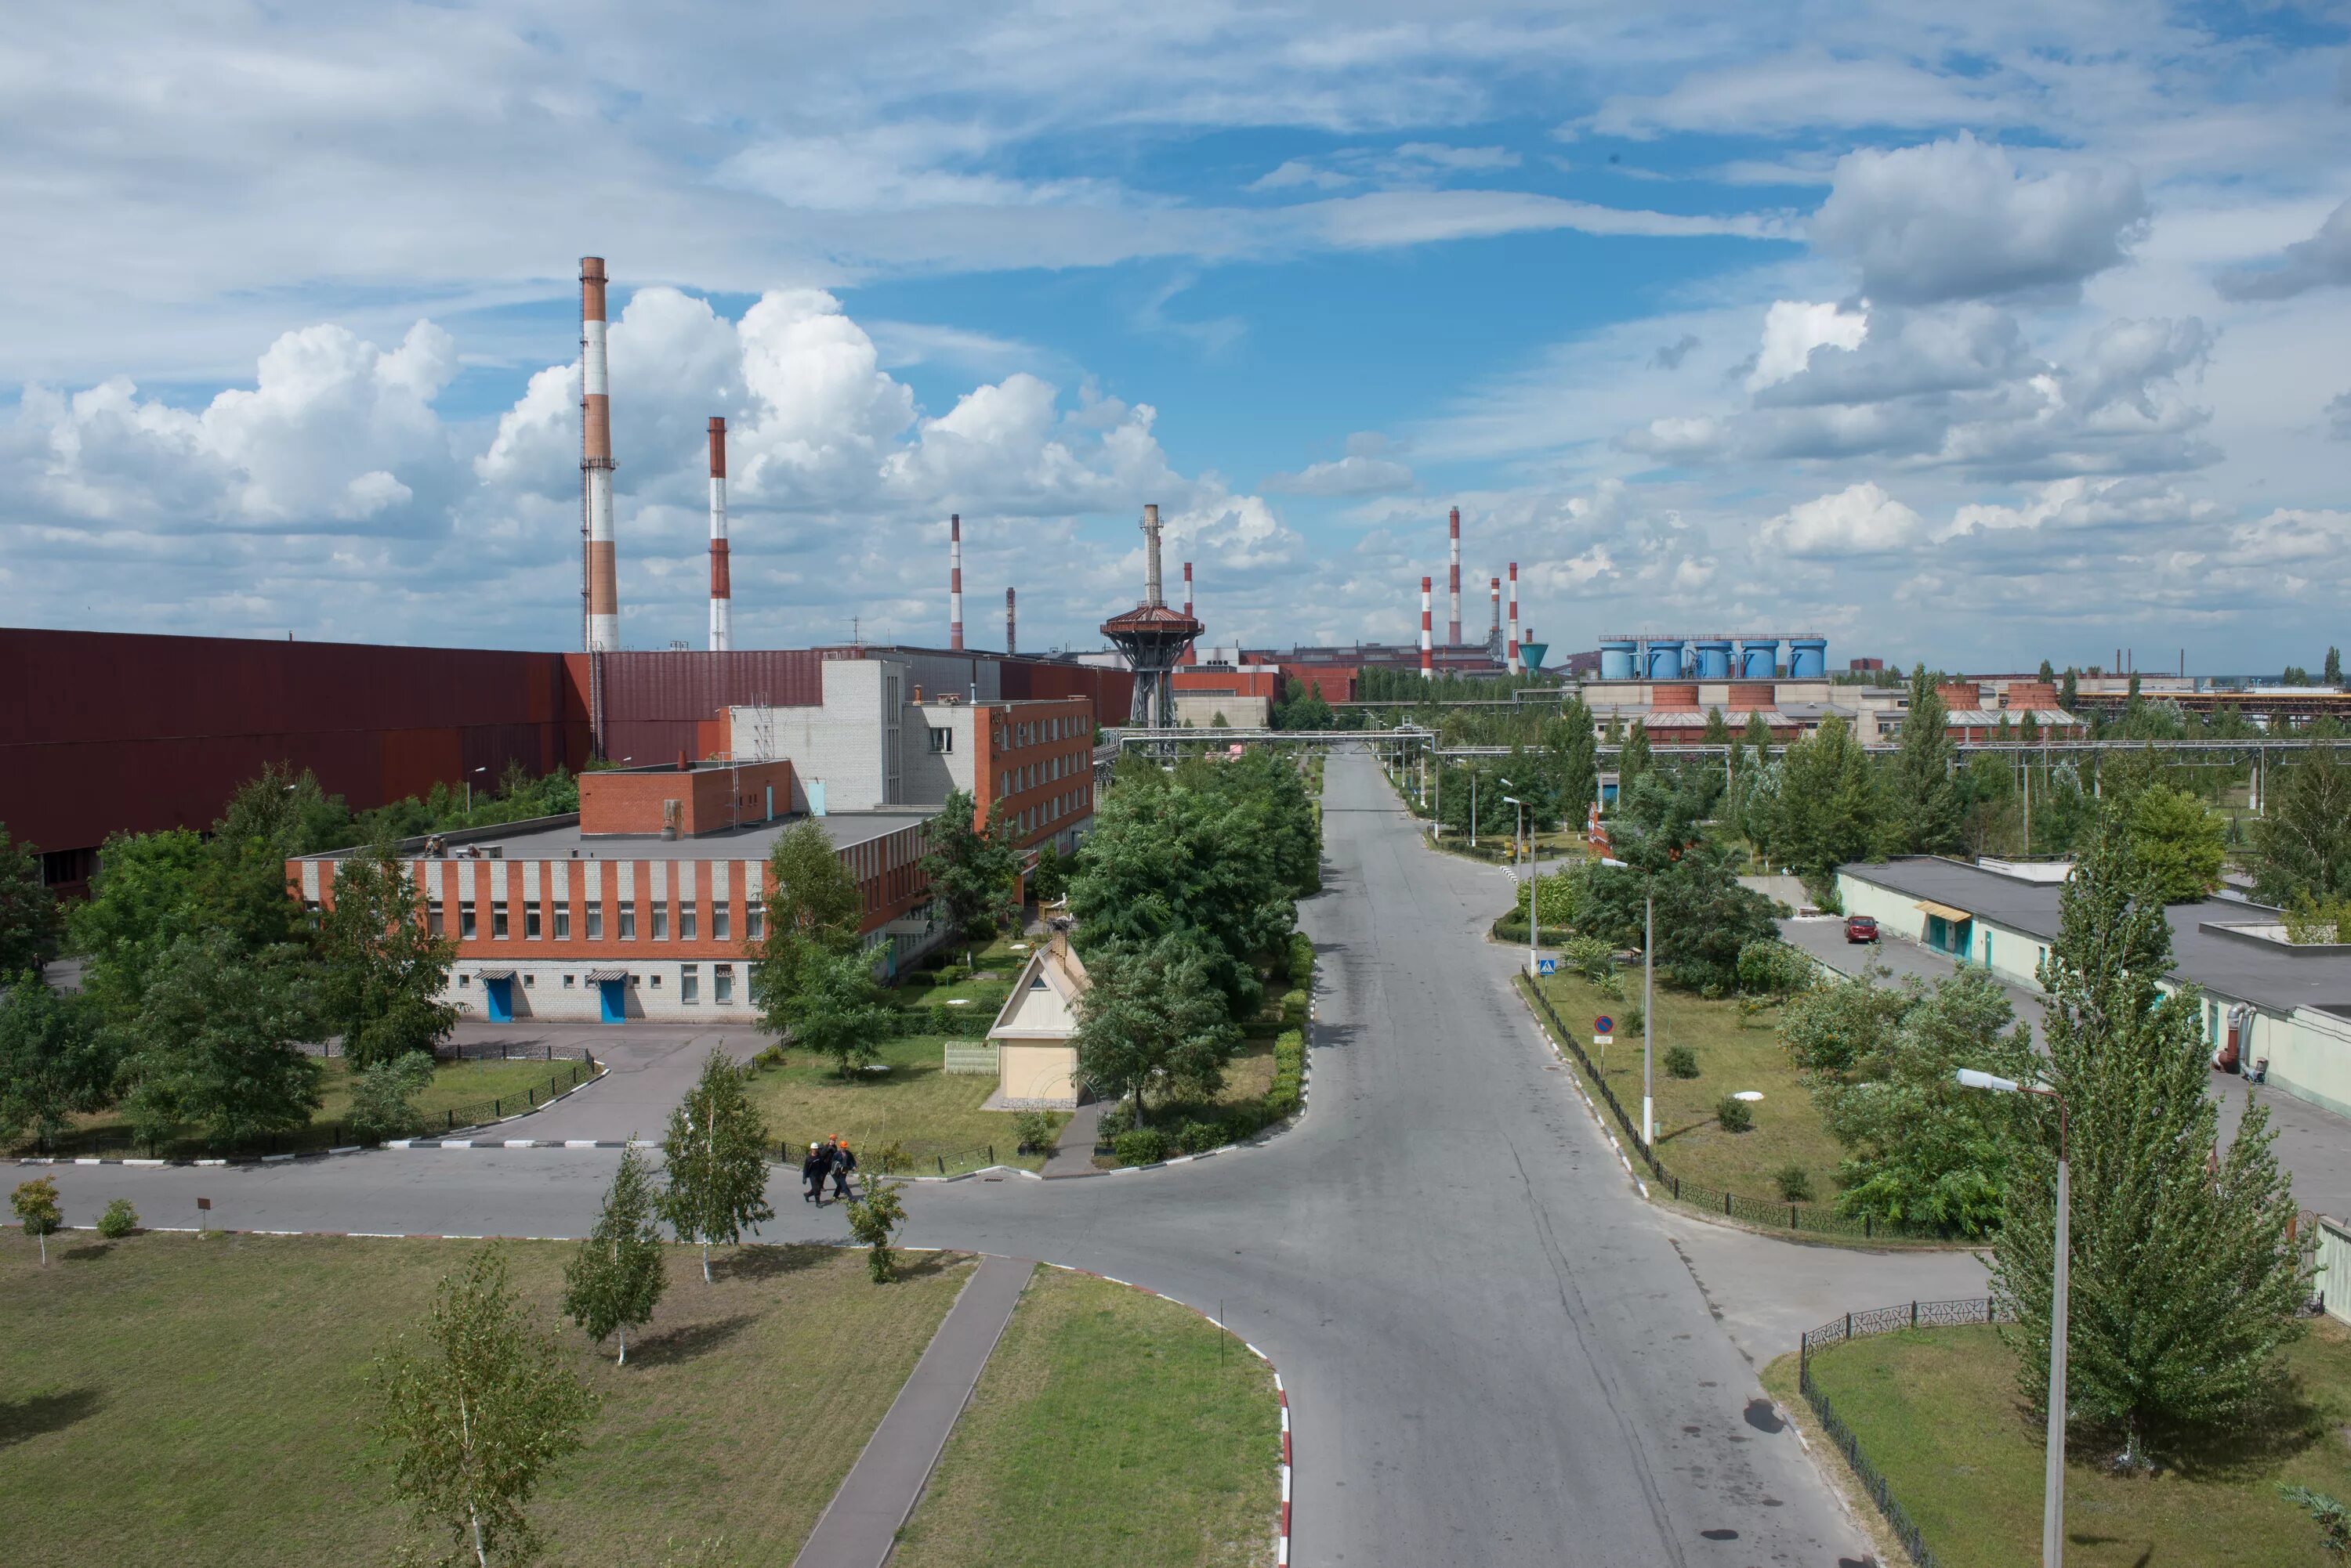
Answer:
[{"label": "lawn between straight footpath and curved red-and-white kerb", "polygon": [[1039,1267],[893,1568],[1225,1568],[1274,1556],[1272,1373],[1176,1302]]}]

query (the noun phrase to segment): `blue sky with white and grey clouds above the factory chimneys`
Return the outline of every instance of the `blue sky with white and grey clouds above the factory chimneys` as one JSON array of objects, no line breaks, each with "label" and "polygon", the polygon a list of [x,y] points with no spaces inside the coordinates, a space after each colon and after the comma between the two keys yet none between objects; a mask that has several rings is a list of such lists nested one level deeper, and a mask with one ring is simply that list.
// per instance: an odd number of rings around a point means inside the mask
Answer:
[{"label": "blue sky with white and grey clouds above the factory chimneys", "polygon": [[33,0],[0,623],[567,649],[578,256],[623,642],[2316,668],[2351,7]]}]

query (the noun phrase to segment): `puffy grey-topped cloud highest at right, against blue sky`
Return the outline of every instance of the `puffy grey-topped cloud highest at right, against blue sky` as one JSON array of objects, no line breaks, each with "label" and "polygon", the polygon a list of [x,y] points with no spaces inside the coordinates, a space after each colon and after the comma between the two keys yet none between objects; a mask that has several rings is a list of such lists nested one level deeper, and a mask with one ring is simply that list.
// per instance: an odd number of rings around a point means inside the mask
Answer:
[{"label": "puffy grey-topped cloud highest at right, against blue sky", "polygon": [[2069,294],[2118,266],[2146,228],[2137,174],[2020,174],[2008,150],[1961,132],[1890,153],[1846,153],[1813,244],[1853,256],[1862,294],[1893,303]]}]

